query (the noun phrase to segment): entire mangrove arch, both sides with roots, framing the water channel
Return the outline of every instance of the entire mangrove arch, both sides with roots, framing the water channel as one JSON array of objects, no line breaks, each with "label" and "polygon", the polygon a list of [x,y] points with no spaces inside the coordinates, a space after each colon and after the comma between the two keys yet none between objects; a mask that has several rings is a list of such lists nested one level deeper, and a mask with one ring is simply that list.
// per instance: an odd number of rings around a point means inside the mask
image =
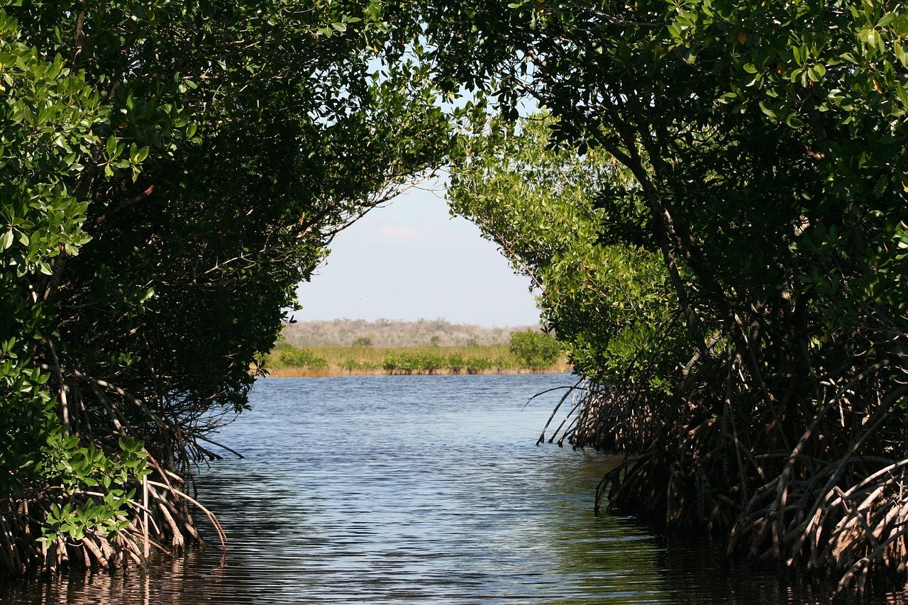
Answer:
[{"label": "entire mangrove arch, both sides with roots, framing the water channel", "polygon": [[447,157],[589,379],[568,438],[628,454],[613,505],[904,574],[901,3],[5,3],[0,32],[7,567],[141,558],[140,484],[182,542],[295,284]]}]

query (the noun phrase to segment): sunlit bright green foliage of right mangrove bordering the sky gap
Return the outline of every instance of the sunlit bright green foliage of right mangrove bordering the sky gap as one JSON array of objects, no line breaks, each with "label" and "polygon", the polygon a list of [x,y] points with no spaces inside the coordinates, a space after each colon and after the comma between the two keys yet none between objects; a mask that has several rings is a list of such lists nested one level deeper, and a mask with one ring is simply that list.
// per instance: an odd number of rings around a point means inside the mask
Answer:
[{"label": "sunlit bright green foliage of right mangrove bordering the sky gap", "polygon": [[[660,257],[641,245],[648,239],[637,187],[601,150],[580,155],[555,144],[555,124],[545,114],[516,126],[493,121],[487,134],[465,138],[451,171],[451,210],[533,280],[578,372],[661,384],[676,354],[677,316]],[[520,347],[527,359],[533,342]]]}]

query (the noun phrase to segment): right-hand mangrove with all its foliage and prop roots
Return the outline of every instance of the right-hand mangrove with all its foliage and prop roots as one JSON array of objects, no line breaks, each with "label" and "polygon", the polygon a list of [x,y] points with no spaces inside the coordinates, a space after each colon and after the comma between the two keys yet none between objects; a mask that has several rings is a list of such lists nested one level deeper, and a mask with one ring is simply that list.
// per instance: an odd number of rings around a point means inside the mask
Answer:
[{"label": "right-hand mangrove with all its foliage and prop roots", "polygon": [[568,438],[627,453],[610,504],[840,590],[904,580],[905,6],[426,4],[439,73],[499,116],[454,208],[591,379]]}]

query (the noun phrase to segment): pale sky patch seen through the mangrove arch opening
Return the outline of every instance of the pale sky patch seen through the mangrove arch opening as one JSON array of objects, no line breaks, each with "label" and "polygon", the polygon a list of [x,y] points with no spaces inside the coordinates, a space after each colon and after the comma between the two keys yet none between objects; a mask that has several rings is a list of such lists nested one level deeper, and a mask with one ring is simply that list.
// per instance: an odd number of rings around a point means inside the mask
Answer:
[{"label": "pale sky patch seen through the mangrove arch opening", "polygon": [[410,189],[331,243],[298,288],[300,322],[444,318],[486,327],[538,323],[529,279],[466,219],[450,217],[441,186]]}]

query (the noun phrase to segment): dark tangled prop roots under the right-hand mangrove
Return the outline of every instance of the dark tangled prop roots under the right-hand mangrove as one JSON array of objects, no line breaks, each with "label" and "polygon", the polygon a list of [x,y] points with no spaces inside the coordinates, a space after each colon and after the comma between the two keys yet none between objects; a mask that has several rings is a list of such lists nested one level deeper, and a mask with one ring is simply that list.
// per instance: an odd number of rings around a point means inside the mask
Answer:
[{"label": "dark tangled prop roots under the right-hand mangrove", "polygon": [[816,401],[795,406],[748,384],[738,363],[701,368],[670,397],[578,390],[561,439],[625,454],[599,483],[596,511],[713,531],[729,554],[830,577],[840,593],[904,583],[908,372],[879,362],[827,376]]}]

